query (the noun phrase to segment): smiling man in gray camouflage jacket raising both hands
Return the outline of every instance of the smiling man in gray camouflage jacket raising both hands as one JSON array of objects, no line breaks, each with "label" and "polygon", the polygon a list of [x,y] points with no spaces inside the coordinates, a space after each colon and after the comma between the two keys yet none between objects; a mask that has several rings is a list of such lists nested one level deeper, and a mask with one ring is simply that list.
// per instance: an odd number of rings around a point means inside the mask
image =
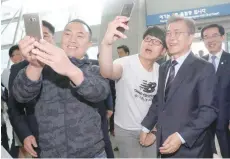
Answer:
[{"label": "smiling man in gray camouflage jacket raising both hands", "polygon": [[91,38],[90,27],[76,19],[66,25],[61,48],[28,36],[19,42],[29,65],[18,73],[12,93],[20,103],[37,101],[40,154],[34,157],[106,157],[101,118],[93,106],[106,99],[109,83],[84,58]]}]

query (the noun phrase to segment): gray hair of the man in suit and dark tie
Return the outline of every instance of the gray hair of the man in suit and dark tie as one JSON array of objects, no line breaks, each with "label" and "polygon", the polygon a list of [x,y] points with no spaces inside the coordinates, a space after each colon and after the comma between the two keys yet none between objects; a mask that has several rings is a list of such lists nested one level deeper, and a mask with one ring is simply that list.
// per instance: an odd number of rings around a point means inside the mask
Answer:
[{"label": "gray hair of the man in suit and dark tie", "polygon": [[193,35],[196,33],[195,21],[191,18],[185,18],[182,16],[173,15],[173,16],[169,17],[168,22],[166,24],[166,27],[168,28],[169,24],[174,23],[174,22],[178,22],[178,21],[184,21],[185,22],[185,24],[188,27],[190,34]]}]

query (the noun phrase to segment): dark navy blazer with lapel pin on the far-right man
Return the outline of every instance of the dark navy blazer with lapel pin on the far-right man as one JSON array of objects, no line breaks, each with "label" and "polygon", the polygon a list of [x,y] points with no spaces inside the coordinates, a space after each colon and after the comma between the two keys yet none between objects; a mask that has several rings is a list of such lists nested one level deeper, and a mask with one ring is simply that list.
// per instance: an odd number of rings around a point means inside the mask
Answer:
[{"label": "dark navy blazer with lapel pin on the far-right man", "polygon": [[[208,61],[209,55],[203,57]],[[230,120],[230,54],[223,52],[218,69],[217,76],[217,104],[219,106],[219,115],[216,128],[225,130]]]}]

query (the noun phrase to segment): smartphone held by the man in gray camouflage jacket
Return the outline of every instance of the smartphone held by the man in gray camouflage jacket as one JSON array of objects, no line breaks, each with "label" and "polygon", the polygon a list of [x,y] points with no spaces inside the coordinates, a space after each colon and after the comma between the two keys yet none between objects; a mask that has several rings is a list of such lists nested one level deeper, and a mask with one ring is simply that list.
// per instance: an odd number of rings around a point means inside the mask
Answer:
[{"label": "smartphone held by the man in gray camouflage jacket", "polygon": [[34,37],[35,40],[43,38],[42,23],[38,13],[29,13],[23,15],[25,31],[27,36]]}]

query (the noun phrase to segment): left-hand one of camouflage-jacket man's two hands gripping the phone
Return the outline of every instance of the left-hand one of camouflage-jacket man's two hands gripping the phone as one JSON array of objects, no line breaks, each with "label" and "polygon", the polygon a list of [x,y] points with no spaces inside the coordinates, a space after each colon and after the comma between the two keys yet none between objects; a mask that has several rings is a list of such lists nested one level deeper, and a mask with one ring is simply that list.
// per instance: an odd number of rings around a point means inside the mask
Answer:
[{"label": "left-hand one of camouflage-jacket man's two hands gripping the phone", "polygon": [[34,38],[26,36],[19,42],[18,46],[25,60],[27,60],[32,66],[36,68],[43,68],[44,64],[39,62],[36,59],[36,56],[31,52],[35,48],[34,42]]}]

